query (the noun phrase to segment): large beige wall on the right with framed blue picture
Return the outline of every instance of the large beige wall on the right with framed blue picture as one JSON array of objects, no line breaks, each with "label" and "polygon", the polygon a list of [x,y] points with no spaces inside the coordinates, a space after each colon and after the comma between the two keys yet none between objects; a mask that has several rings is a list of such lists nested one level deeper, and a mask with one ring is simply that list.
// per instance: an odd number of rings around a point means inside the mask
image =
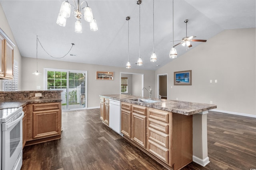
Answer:
[{"label": "large beige wall on the right with framed blue picture", "polygon": [[[256,115],[255,35],[255,28],[224,30],[156,70],[168,74],[168,99]],[[182,70],[192,70],[192,86],[174,86],[173,72]]]}]

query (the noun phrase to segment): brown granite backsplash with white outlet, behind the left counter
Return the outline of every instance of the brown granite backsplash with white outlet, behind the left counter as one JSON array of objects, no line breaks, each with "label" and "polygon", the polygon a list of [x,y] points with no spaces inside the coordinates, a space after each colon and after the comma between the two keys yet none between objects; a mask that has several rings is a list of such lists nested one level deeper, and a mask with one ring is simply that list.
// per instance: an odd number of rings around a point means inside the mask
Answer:
[{"label": "brown granite backsplash with white outlet, behind the left counter", "polygon": [[[0,101],[28,99],[61,99],[62,90],[0,92]],[[42,94],[42,96],[41,96]],[[36,97],[40,96],[40,97]]]}]

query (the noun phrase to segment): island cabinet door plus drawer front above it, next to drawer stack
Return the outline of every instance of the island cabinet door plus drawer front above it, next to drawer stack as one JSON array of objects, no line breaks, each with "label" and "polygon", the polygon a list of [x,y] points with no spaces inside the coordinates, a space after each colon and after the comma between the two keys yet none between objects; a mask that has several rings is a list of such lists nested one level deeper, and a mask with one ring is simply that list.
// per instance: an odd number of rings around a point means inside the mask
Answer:
[{"label": "island cabinet door plus drawer front above it, next to drawer stack", "polygon": [[132,105],[131,139],[146,148],[146,107]]}]

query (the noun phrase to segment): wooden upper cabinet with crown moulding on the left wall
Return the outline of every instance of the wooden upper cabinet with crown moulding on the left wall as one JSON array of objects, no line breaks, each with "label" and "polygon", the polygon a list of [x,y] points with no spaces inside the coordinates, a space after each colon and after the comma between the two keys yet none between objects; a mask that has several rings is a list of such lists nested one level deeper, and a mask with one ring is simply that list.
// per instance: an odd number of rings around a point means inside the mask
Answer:
[{"label": "wooden upper cabinet with crown moulding on the left wall", "polygon": [[14,43],[0,29],[0,79],[13,78]]}]

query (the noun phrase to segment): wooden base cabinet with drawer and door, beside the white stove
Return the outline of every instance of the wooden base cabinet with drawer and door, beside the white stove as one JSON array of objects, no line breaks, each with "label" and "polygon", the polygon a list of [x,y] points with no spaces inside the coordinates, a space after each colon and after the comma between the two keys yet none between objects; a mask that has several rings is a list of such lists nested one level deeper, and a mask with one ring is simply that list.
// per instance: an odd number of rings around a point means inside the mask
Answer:
[{"label": "wooden base cabinet with drawer and door, beside the white stove", "polygon": [[26,146],[61,138],[61,102],[26,107]]}]

